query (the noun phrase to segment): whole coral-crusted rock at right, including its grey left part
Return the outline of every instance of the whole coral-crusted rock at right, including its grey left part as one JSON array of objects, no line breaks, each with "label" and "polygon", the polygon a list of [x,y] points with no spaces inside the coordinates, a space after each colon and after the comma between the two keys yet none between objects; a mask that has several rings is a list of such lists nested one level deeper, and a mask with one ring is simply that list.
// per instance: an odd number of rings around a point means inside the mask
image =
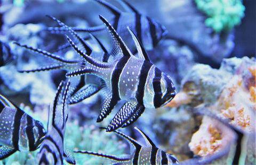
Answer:
[{"label": "whole coral-crusted rock at right, including its grey left part", "polygon": [[[191,73],[183,80],[182,90],[168,106],[204,105],[217,116],[230,119],[230,124],[243,129],[245,133],[255,133],[255,59],[225,59],[220,70],[211,69],[209,75],[204,74],[207,71],[201,70],[202,68],[205,70],[207,67],[194,66],[191,69]],[[208,99],[204,97],[210,94]],[[225,149],[234,137],[235,134],[228,127],[204,116],[198,131],[191,137],[189,147],[194,154],[205,157]],[[252,145],[252,141],[248,141],[247,146],[249,145]],[[255,154],[252,158],[255,158]]]}]

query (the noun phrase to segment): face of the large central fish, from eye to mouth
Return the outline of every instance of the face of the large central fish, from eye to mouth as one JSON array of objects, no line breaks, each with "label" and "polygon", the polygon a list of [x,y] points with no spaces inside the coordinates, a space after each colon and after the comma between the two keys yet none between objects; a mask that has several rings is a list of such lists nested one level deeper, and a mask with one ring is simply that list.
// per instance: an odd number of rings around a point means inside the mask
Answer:
[{"label": "face of the large central fish, from eye to mouth", "polygon": [[171,77],[169,75],[166,75],[163,72],[162,72],[162,77],[160,81],[161,81],[160,82],[161,90],[163,94],[161,106],[164,106],[174,98],[174,96],[176,95],[176,89]]}]

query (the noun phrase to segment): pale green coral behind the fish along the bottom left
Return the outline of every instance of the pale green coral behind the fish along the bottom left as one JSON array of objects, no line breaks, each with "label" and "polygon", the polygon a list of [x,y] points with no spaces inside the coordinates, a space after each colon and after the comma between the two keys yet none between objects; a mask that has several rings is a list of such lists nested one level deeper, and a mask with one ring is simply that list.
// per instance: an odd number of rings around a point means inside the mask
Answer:
[{"label": "pale green coral behind the fish along the bottom left", "polygon": [[[39,113],[33,113],[28,107],[21,107],[27,114],[39,119],[39,116],[47,112],[44,110]],[[42,121],[42,120],[41,120]],[[46,121],[43,124],[46,125]],[[118,141],[114,133],[106,133],[93,125],[78,125],[77,121],[68,121],[64,139],[65,150],[72,152],[74,149],[89,150],[94,152],[103,152],[107,154],[124,155],[126,144],[124,141]],[[15,152],[10,157],[0,161],[2,164],[37,164],[37,153],[39,149],[33,152]],[[93,157],[92,155],[74,153],[76,164],[102,164],[103,159]],[[68,163],[66,163],[68,164]]]}]

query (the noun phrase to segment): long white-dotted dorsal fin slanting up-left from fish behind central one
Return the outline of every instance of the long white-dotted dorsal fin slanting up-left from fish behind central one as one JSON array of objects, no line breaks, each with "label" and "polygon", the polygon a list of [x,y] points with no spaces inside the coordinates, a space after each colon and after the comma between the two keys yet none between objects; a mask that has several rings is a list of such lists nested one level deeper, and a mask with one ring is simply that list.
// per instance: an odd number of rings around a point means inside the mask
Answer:
[{"label": "long white-dotted dorsal fin slanting up-left from fish behind central one", "polygon": [[84,49],[86,50],[86,54],[90,55],[92,53],[92,48],[86,43],[86,41],[80,37],[73,29],[71,29],[70,27],[68,27],[68,25],[66,25],[65,23],[61,22],[60,20],[54,18],[53,16],[50,15],[46,15],[49,18],[51,18],[52,20],[54,20],[55,22],[57,22],[61,27],[65,28],[71,35],[73,35],[84,47]]}]

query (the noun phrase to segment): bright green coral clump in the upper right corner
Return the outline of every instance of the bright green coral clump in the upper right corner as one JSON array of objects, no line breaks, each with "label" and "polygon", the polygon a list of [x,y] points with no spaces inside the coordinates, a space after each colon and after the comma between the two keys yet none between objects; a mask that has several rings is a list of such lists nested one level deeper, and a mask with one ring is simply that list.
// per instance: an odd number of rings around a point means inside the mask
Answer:
[{"label": "bright green coral clump in the upper right corner", "polygon": [[241,0],[195,0],[197,8],[207,15],[205,24],[215,32],[230,31],[241,23],[245,7]]}]

